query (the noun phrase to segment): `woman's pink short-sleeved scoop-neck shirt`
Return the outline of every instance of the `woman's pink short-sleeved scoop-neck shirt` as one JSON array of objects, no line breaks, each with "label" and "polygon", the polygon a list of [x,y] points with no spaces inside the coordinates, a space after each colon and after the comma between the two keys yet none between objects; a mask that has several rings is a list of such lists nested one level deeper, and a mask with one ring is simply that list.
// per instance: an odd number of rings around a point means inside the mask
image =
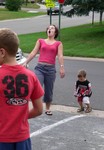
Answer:
[{"label": "woman's pink short-sleeved scoop-neck shirt", "polygon": [[53,44],[47,44],[44,39],[39,39],[40,42],[40,55],[38,62],[46,62],[49,64],[55,64],[56,55],[58,53],[58,46],[60,41],[56,41]]}]

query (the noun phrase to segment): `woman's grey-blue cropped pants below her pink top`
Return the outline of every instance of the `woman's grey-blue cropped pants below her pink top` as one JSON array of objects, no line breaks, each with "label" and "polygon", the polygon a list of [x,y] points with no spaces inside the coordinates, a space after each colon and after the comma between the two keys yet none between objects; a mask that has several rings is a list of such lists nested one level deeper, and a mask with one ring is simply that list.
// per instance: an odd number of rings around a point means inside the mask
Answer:
[{"label": "woman's grey-blue cropped pants below her pink top", "polygon": [[35,74],[42,86],[44,86],[44,102],[51,102],[53,98],[53,88],[56,79],[55,65],[37,64]]}]

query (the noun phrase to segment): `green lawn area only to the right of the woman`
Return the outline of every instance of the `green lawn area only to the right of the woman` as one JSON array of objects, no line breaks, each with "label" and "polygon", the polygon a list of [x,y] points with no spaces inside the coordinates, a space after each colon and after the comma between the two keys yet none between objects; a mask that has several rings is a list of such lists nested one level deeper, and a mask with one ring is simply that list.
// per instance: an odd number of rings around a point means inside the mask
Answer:
[{"label": "green lawn area only to the right of the woman", "polygon": [[104,58],[104,26],[83,25],[62,30],[64,55]]}]

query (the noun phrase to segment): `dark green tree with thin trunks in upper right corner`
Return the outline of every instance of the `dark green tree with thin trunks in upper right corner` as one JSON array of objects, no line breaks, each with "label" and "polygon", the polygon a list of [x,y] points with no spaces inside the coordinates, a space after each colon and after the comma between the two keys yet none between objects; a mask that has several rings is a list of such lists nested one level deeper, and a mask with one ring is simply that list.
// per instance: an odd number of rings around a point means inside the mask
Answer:
[{"label": "dark green tree with thin trunks in upper right corner", "polygon": [[104,0],[66,0],[65,5],[71,4],[73,8],[65,13],[72,17],[73,15],[89,15],[92,11],[92,24],[94,23],[94,12],[100,13],[100,23],[104,12]]}]

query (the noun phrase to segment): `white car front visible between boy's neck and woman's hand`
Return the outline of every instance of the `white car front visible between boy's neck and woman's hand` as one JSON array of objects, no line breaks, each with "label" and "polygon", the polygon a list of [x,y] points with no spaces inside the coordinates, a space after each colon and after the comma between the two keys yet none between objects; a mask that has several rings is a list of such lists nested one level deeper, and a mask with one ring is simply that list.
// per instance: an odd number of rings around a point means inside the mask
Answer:
[{"label": "white car front visible between boy's neck and woman's hand", "polygon": [[26,61],[26,57],[23,55],[23,52],[20,48],[18,48],[18,52],[16,54],[16,61],[19,65],[23,65],[23,63]]}]

